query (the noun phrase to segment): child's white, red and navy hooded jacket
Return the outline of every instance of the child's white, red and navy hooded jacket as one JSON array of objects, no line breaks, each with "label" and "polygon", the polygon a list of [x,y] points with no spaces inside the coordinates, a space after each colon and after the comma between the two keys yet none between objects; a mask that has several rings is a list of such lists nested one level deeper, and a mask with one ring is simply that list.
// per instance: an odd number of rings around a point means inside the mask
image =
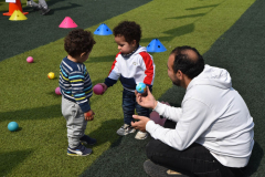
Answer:
[{"label": "child's white, red and navy hooded jacket", "polygon": [[124,88],[135,92],[136,85],[140,82],[152,86],[155,69],[152,56],[147,53],[145,46],[139,46],[129,56],[125,56],[119,52],[104,83],[109,87],[119,79]]}]

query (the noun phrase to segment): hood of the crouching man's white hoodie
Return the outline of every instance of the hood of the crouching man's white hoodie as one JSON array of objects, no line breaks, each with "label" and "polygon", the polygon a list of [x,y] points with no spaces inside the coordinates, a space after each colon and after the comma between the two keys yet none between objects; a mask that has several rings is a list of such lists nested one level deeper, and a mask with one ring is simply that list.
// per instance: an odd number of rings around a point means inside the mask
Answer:
[{"label": "hood of the crouching man's white hoodie", "polygon": [[232,87],[232,79],[226,70],[205,64],[202,73],[191,80],[187,91],[194,85],[211,85],[227,90]]}]

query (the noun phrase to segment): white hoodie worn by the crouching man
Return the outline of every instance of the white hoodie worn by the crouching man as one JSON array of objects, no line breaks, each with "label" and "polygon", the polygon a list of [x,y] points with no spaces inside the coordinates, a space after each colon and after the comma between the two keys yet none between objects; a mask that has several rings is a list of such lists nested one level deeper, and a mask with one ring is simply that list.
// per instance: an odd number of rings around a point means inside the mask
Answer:
[{"label": "white hoodie worn by the crouching man", "polygon": [[178,150],[198,143],[224,166],[247,165],[254,123],[226,70],[205,65],[189,83],[180,108],[158,102],[153,111],[177,122],[176,129],[169,129],[149,121],[146,129],[153,138]]}]

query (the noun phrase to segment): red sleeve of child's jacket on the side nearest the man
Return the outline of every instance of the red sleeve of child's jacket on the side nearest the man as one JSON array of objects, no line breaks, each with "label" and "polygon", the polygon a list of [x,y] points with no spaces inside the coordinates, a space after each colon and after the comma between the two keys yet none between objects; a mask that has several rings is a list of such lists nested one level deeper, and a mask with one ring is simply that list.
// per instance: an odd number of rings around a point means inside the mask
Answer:
[{"label": "red sleeve of child's jacket on the side nearest the man", "polygon": [[141,67],[145,71],[145,79],[144,79],[144,83],[147,85],[152,85],[153,83],[153,79],[155,79],[155,64],[152,61],[152,58],[149,53],[147,52],[141,52],[139,53],[142,58],[142,63],[141,63]]}]

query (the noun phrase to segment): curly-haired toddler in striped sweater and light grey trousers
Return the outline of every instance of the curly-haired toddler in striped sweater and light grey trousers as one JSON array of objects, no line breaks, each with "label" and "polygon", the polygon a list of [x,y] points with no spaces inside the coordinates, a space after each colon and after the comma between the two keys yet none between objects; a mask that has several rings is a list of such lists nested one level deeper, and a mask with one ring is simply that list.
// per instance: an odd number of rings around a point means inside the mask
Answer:
[{"label": "curly-haired toddler in striped sweater and light grey trousers", "polygon": [[92,149],[83,144],[96,143],[96,139],[84,134],[87,121],[93,121],[95,115],[89,104],[93,85],[84,64],[95,43],[92,33],[83,29],[71,31],[64,39],[67,56],[60,65],[59,84],[62,93],[62,114],[66,119],[70,156],[87,156]]}]

